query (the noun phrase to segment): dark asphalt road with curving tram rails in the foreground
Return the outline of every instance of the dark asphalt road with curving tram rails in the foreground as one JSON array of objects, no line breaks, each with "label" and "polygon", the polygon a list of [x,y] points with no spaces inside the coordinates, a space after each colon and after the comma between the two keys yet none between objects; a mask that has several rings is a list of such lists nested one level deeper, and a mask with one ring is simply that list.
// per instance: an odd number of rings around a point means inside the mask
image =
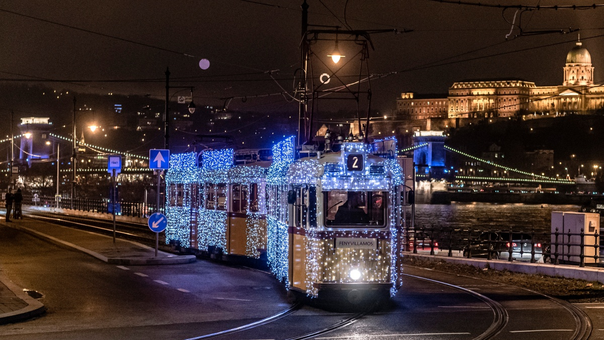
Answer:
[{"label": "dark asphalt road with curving tram rails in the foreground", "polygon": [[[0,338],[188,339],[248,324],[291,306],[266,273],[212,261],[175,266],[114,266],[0,226],[0,268],[43,294],[48,312],[0,326]],[[556,301],[527,290],[434,270],[405,273],[471,290],[500,304],[507,319],[496,339],[568,339],[577,327]],[[593,339],[604,338],[604,304],[582,304]],[[290,315],[216,339],[288,339],[352,314],[304,306]],[[316,339],[474,339],[493,323],[491,306],[457,287],[405,276],[390,306]]]}]

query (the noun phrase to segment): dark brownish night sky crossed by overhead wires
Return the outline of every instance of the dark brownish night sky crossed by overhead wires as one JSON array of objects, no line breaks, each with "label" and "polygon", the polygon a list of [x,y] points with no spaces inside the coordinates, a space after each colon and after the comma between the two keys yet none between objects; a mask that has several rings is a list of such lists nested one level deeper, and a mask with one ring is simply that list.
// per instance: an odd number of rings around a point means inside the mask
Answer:
[{"label": "dark brownish night sky crossed by overhead wires", "polygon": [[[375,34],[372,37],[376,50],[370,54],[370,72],[399,71],[372,82],[373,108],[385,113],[394,109],[394,99],[402,91],[446,93],[453,82],[463,79],[519,77],[533,81],[536,85],[561,85],[565,56],[577,38],[577,33],[547,34],[522,36],[506,42],[505,36],[510,31],[510,24],[507,24],[502,10],[498,8],[427,0],[321,1],[341,17],[341,21],[344,21],[344,6],[348,2],[347,22],[353,29],[414,30],[402,34]],[[321,1],[308,1],[309,23],[342,26]],[[292,89],[292,74],[299,67],[301,1],[254,2],[263,4],[241,0],[5,0],[0,2],[0,10],[15,11],[178,53],[0,11],[0,78],[154,79],[150,82],[44,85],[72,91],[151,94],[161,98],[164,95],[162,79],[165,68],[169,66],[174,78],[195,77],[192,79],[198,80],[172,83],[174,86],[195,86],[197,103],[222,105],[223,100],[220,98],[248,96],[245,103],[233,100],[230,108],[297,111],[296,103],[288,103],[283,96],[259,99],[252,96],[281,92],[277,83],[263,73],[265,71],[279,70],[274,73],[274,77],[283,79],[279,82],[283,88]],[[482,2],[523,5],[562,3],[552,0]],[[586,5],[593,3],[593,0],[564,1],[564,4],[571,3]],[[515,10],[509,9],[503,14],[512,21]],[[604,36],[589,38],[604,34],[603,18],[604,8],[539,10],[522,15],[522,28],[525,31],[580,28],[581,39],[591,52],[593,66],[596,68],[594,80],[600,82],[604,80]],[[515,28],[512,36],[518,33],[518,28]],[[567,43],[492,56],[559,42]],[[495,46],[471,52],[490,45]],[[346,53],[345,47],[342,52]],[[462,53],[467,54],[445,62],[491,57],[404,71]],[[208,70],[198,67],[201,58],[210,60]],[[0,102],[0,110],[6,112],[10,109],[6,102]]]}]

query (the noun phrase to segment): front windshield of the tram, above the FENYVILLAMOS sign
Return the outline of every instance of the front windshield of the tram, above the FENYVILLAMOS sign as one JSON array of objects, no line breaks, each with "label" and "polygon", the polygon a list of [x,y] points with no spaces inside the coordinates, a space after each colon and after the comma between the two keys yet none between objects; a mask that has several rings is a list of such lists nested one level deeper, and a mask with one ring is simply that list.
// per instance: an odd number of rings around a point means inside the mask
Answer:
[{"label": "front windshield of the tram, above the FENYVILLAMOS sign", "polygon": [[326,226],[384,226],[385,191],[325,191]]}]

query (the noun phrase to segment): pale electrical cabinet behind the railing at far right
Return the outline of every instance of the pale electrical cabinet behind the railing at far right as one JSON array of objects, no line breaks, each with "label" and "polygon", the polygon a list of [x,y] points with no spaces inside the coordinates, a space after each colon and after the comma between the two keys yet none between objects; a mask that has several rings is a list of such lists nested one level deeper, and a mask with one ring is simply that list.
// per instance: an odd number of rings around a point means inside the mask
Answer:
[{"label": "pale electrical cabinet behind the railing at far right", "polygon": [[[556,240],[557,228],[557,240]],[[568,235],[570,233],[570,236]],[[581,240],[583,233],[583,240]],[[596,233],[598,234],[596,237]],[[600,245],[600,214],[591,212],[553,211],[551,212],[551,260],[558,253],[561,263],[580,263],[581,246],[586,264],[598,263],[595,255],[599,255]],[[557,244],[557,247],[556,247]]]}]

